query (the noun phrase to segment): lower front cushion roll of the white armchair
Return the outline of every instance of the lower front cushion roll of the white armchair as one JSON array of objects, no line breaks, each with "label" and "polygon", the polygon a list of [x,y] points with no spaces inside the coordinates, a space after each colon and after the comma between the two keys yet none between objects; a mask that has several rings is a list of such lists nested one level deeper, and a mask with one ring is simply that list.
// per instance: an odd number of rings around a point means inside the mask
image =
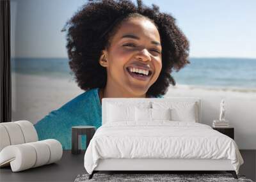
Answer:
[{"label": "lower front cushion roll of the white armchair", "polygon": [[0,152],[0,167],[10,164],[13,172],[23,171],[56,162],[62,153],[60,142],[54,139],[7,146]]}]

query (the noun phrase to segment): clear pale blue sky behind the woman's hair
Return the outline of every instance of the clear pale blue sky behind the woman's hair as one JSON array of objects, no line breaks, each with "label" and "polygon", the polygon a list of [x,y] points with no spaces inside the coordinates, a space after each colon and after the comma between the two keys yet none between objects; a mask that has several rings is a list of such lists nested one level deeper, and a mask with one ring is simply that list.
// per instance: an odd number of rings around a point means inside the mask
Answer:
[{"label": "clear pale blue sky behind the woman's hair", "polygon": [[[12,57],[67,57],[61,29],[86,0],[11,0]],[[135,1],[134,1],[135,2]],[[255,0],[144,0],[170,13],[190,57],[256,58]]]}]

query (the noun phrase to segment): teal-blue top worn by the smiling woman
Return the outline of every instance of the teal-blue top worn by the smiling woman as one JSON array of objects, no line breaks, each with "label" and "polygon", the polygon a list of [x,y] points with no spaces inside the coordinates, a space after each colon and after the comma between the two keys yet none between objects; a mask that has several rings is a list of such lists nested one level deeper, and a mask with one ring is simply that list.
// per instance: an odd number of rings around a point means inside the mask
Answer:
[{"label": "teal-blue top worn by the smiling woman", "polygon": [[[162,96],[159,96],[162,98]],[[99,88],[90,89],[58,110],[52,110],[45,118],[35,124],[39,140],[56,139],[63,149],[71,149],[72,126],[90,125],[99,128],[102,125],[102,107]],[[85,149],[86,137],[82,137],[82,149]]]}]

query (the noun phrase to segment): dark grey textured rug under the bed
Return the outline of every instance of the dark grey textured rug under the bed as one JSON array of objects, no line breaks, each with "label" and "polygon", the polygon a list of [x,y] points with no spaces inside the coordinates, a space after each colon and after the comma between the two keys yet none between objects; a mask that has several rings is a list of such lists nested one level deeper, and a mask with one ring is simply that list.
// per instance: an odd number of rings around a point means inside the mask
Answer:
[{"label": "dark grey textured rug under the bed", "polygon": [[224,181],[243,181],[253,182],[251,179],[246,179],[244,175],[238,175],[238,179],[234,179],[232,174],[99,174],[93,175],[92,179],[88,179],[89,174],[79,174],[75,182],[85,181],[171,181],[171,182],[190,182],[190,181],[210,181],[210,182],[224,182]]}]

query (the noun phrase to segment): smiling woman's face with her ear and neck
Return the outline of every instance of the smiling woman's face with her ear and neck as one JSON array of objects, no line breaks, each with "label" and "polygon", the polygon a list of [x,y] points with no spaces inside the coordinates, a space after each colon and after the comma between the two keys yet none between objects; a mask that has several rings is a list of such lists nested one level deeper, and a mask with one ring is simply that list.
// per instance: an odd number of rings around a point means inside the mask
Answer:
[{"label": "smiling woman's face with her ear and neck", "polygon": [[132,17],[122,22],[100,58],[106,63],[106,88],[116,95],[145,97],[161,72],[161,50],[159,32],[150,20]]}]

